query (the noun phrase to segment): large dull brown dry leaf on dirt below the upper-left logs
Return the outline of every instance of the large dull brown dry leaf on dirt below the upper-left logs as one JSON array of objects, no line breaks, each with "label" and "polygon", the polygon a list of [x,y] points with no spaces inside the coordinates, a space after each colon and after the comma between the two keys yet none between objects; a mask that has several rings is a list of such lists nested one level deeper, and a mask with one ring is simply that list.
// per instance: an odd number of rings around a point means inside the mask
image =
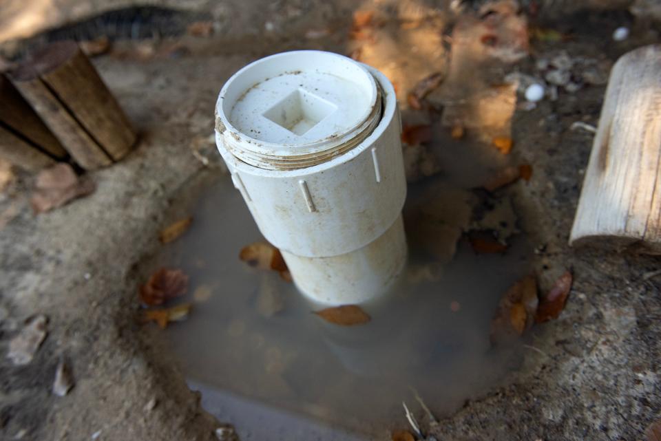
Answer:
[{"label": "large dull brown dry leaf on dirt below the upper-left logs", "polygon": [[43,169],[36,177],[30,204],[34,213],[44,213],[67,204],[76,197],[94,192],[96,185],[87,177],[78,178],[72,166],[59,162]]}]

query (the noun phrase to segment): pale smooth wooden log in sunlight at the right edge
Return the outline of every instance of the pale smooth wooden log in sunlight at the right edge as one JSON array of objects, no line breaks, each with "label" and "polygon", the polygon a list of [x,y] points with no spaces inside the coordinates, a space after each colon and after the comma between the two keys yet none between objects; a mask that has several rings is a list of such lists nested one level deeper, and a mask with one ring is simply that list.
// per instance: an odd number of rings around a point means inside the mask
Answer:
[{"label": "pale smooth wooden log in sunlight at the right edge", "polygon": [[613,66],[569,243],[661,253],[661,45]]}]

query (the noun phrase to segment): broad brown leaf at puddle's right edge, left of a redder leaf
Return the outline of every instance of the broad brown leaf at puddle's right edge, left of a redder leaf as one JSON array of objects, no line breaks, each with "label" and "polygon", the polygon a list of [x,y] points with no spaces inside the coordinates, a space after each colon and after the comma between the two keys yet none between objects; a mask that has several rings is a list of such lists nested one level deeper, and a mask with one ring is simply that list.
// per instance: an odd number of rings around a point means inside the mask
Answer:
[{"label": "broad brown leaf at puddle's right edge, left of a redder leaf", "polygon": [[538,308],[537,280],[526,276],[505,292],[491,322],[491,341],[520,336],[535,323]]}]

